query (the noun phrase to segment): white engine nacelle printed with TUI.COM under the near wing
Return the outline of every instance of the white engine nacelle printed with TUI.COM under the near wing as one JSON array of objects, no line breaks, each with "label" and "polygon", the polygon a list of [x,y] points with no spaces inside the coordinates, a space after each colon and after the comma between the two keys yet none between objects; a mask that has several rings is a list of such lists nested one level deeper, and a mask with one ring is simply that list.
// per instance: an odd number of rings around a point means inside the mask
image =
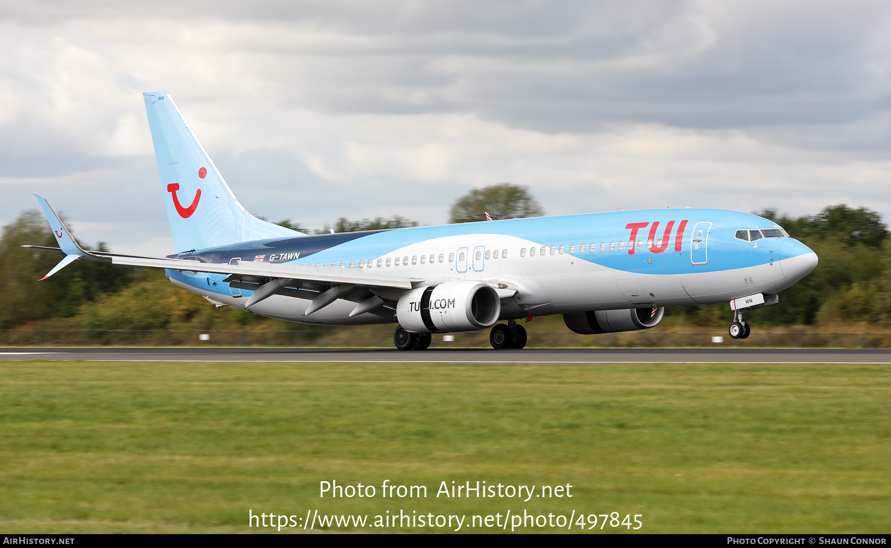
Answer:
[{"label": "white engine nacelle printed with TUI.COM under the near wing", "polygon": [[419,287],[396,304],[399,325],[413,333],[485,329],[494,326],[500,314],[495,288],[472,280]]}]

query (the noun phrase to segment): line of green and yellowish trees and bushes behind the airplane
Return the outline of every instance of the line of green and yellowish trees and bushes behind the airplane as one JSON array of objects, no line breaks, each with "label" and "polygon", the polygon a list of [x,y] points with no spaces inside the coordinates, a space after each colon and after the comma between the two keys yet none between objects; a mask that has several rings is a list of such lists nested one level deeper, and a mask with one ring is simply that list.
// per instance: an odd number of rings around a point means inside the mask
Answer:
[{"label": "line of green and yellowish trees and bushes behind the airplane", "polygon": [[[485,221],[544,214],[525,187],[502,183],[474,189],[459,198],[451,222]],[[834,321],[891,324],[891,238],[881,215],[867,208],[830,205],[820,213],[789,217],[775,209],[757,213],[811,247],[820,257],[813,272],[781,293],[779,304],[747,312],[746,320],[762,325],[830,324]],[[311,232],[298,222],[282,226]],[[395,229],[419,223],[399,215],[350,221],[339,218],[315,233]],[[56,246],[43,214],[22,212],[4,226],[0,238],[0,328],[52,318],[69,318],[84,328],[159,329],[194,318],[225,319],[246,326],[265,321],[242,310],[214,310],[199,295],[167,283],[159,272],[77,261],[52,278],[38,281],[61,260],[61,254],[21,247]],[[84,246],[83,243],[81,243]],[[88,248],[88,246],[85,246]],[[102,242],[95,249],[107,251]],[[207,309],[207,310],[206,310]],[[228,310],[227,310],[228,309]],[[730,321],[729,307],[692,306],[666,310],[666,317],[709,326]]]}]

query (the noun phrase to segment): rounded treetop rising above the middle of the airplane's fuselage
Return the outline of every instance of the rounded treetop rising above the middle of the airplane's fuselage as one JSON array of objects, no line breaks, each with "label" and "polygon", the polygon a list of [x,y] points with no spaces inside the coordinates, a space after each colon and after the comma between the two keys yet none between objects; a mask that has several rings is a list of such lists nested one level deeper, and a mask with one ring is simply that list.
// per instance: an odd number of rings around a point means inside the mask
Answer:
[{"label": "rounded treetop rising above the middle of the airplane's fuselage", "polygon": [[452,205],[450,222],[486,221],[486,212],[493,219],[540,217],[544,208],[526,187],[503,182],[483,189],[472,189]]}]

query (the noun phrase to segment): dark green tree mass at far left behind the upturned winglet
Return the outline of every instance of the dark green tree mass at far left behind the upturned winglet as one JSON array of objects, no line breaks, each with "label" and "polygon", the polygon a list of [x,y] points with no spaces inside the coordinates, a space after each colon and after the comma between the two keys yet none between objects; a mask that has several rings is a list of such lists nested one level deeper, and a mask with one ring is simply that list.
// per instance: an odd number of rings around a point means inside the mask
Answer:
[{"label": "dark green tree mass at far left behind the upturned winglet", "polygon": [[[0,328],[74,316],[84,302],[117,291],[133,277],[132,267],[81,260],[41,280],[65,255],[23,245],[58,247],[44,214],[24,211],[4,226],[0,238]],[[100,243],[97,251],[107,249]]]}]

